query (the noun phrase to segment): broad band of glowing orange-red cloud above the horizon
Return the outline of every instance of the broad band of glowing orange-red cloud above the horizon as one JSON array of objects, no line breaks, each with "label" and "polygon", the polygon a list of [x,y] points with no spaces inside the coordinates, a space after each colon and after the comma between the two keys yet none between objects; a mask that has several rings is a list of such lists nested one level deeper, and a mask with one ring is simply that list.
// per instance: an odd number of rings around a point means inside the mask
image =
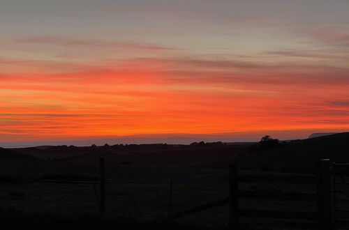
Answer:
[{"label": "broad band of glowing orange-red cloud above the horizon", "polygon": [[63,70],[29,62],[29,72],[22,63],[12,61],[18,70],[0,74],[0,134],[13,141],[26,135],[57,139],[349,128],[347,68],[148,58],[70,63]]}]

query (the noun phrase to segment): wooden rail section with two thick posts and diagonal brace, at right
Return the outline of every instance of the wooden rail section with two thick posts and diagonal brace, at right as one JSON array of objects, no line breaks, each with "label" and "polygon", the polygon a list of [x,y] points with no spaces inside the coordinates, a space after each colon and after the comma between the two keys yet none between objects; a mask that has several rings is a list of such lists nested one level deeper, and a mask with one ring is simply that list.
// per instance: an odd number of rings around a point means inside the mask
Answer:
[{"label": "wooden rail section with two thick posts and diagonal brace, at right", "polygon": [[[239,229],[239,217],[270,218],[270,219],[295,219],[313,220],[317,229],[334,230],[334,172],[329,159],[320,161],[318,171],[308,175],[239,175],[235,164],[229,167],[229,197],[212,201],[207,204],[170,213],[169,217],[178,218],[191,213],[197,213],[208,208],[229,204],[229,228]],[[349,164],[347,165],[349,167]],[[240,183],[302,183],[315,185],[315,192],[272,192],[267,190],[239,190]],[[349,185],[349,183],[348,183]],[[239,207],[239,199],[275,199],[290,201],[313,201],[317,206],[314,212],[282,211],[282,210],[258,210]],[[349,210],[348,210],[349,212]],[[348,220],[349,221],[349,220]]]}]

